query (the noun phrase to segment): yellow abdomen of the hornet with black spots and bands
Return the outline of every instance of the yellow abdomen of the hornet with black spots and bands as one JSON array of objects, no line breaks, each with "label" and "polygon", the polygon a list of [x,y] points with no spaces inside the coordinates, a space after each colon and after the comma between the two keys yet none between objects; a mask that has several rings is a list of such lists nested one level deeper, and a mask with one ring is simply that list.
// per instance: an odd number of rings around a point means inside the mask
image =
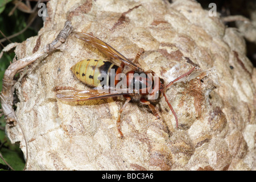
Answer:
[{"label": "yellow abdomen of the hornet with black spots and bands", "polygon": [[122,72],[120,67],[110,61],[96,59],[79,61],[73,65],[71,71],[80,81],[94,87],[110,86],[110,81],[114,81],[116,85],[116,76]]}]

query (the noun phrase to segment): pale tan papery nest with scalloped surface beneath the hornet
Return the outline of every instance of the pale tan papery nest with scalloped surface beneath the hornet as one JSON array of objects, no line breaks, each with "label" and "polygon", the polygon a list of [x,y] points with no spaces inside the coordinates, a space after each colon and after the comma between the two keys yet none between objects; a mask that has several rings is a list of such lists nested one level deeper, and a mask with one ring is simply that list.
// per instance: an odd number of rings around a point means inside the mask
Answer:
[{"label": "pale tan papery nest with scalloped surface beneath the hornet", "polygon": [[[28,170],[250,170],[255,164],[256,70],[246,57],[236,28],[208,16],[194,1],[52,0],[38,36],[16,47],[18,59],[55,39],[66,20],[74,31],[92,33],[166,82],[197,65],[154,104],[130,102],[121,115],[122,97],[67,105],[56,100],[55,86],[89,89],[70,71],[83,59],[106,59],[71,35],[60,51],[28,67],[17,87],[16,115],[28,142]],[[18,127],[8,127],[20,142]]]}]

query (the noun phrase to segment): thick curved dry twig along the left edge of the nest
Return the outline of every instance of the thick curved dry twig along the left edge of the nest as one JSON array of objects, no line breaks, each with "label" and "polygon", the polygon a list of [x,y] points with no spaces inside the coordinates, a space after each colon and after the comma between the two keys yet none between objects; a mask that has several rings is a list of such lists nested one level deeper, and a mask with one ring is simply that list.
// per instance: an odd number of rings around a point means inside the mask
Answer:
[{"label": "thick curved dry twig along the left edge of the nest", "polygon": [[[33,53],[31,56],[24,57],[23,59],[14,61],[5,71],[5,75],[3,76],[3,88],[1,92],[1,105],[3,109],[3,114],[5,114],[6,122],[9,125],[15,126],[15,124],[19,125],[16,115],[13,109],[13,93],[14,93],[14,83],[13,78],[16,75],[20,69],[23,69],[27,65],[30,65],[35,60],[39,58],[45,58],[50,53],[55,51],[61,44],[65,42],[65,40],[68,38],[68,35],[71,34],[73,30],[73,27],[71,26],[71,22],[67,21],[65,22],[63,30],[60,31],[59,35],[57,35],[57,38],[53,40],[52,43],[47,44],[44,48],[40,49],[39,51]],[[26,143],[26,150],[27,150],[27,140],[23,133],[22,127],[19,125],[25,143]],[[28,152],[26,159],[28,158]],[[27,164],[27,160],[26,160]],[[26,165],[25,165],[26,168]]]}]

